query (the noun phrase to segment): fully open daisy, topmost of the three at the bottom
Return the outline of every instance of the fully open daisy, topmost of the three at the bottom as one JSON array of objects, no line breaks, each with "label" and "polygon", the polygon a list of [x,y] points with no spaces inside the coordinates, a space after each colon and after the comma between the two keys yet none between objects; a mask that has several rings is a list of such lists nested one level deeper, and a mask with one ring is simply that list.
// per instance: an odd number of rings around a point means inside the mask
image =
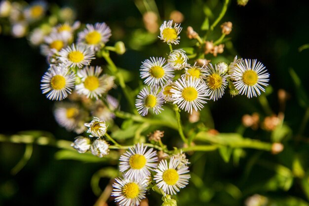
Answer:
[{"label": "fully open daisy, topmost of the three at the bottom", "polygon": [[145,179],[157,165],[158,158],[156,151],[153,150],[153,148],[147,150],[147,146],[144,147],[143,144],[139,143],[130,147],[119,158],[119,171],[125,172],[125,176],[129,179]]}]

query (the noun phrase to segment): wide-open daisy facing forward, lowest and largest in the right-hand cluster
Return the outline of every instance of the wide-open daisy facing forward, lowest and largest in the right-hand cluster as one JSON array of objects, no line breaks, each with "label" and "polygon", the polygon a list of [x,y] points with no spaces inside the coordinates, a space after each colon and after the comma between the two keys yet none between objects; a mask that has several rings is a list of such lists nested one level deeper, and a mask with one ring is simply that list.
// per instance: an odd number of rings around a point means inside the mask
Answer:
[{"label": "wide-open daisy facing forward, lowest and largest in the right-hand cluster", "polygon": [[171,89],[173,103],[178,104],[181,109],[185,109],[192,114],[192,109],[195,111],[204,107],[203,103],[208,100],[208,87],[200,78],[189,79],[182,77],[175,82],[175,86]]}]

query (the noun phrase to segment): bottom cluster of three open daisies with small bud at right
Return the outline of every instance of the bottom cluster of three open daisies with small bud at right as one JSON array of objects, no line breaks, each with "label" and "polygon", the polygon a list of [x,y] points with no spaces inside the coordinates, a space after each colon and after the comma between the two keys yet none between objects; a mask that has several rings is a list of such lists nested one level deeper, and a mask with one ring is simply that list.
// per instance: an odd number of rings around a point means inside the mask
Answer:
[{"label": "bottom cluster of three open daisies with small bud at right", "polygon": [[189,182],[189,162],[183,153],[157,164],[156,151],[138,143],[121,155],[119,161],[119,171],[123,173],[116,178],[112,193],[119,206],[138,206],[154,185],[165,195],[176,195]]}]

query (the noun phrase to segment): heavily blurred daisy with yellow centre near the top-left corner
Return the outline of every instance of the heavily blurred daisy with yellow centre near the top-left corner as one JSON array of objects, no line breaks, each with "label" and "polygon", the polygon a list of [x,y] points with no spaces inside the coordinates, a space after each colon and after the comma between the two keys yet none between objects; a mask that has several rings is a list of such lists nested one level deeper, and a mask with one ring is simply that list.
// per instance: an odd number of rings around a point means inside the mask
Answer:
[{"label": "heavily blurred daisy with yellow centre near the top-left corner", "polygon": [[36,21],[41,19],[46,11],[47,3],[39,0],[34,1],[24,10],[24,16],[28,21]]}]

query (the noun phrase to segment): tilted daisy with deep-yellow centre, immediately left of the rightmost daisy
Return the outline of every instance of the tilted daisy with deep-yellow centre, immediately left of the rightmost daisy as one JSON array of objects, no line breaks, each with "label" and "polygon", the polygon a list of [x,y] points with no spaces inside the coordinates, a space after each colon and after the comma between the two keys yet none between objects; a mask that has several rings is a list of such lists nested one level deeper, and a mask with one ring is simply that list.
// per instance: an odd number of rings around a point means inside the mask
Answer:
[{"label": "tilted daisy with deep-yellow centre, immediately left of the rightmost daisy", "polygon": [[229,75],[225,75],[224,69],[222,67],[217,67],[215,65],[215,68],[212,66],[212,64],[208,64],[205,81],[209,88],[209,99],[216,101],[222,97],[224,94],[224,90],[228,85],[227,78]]}]

